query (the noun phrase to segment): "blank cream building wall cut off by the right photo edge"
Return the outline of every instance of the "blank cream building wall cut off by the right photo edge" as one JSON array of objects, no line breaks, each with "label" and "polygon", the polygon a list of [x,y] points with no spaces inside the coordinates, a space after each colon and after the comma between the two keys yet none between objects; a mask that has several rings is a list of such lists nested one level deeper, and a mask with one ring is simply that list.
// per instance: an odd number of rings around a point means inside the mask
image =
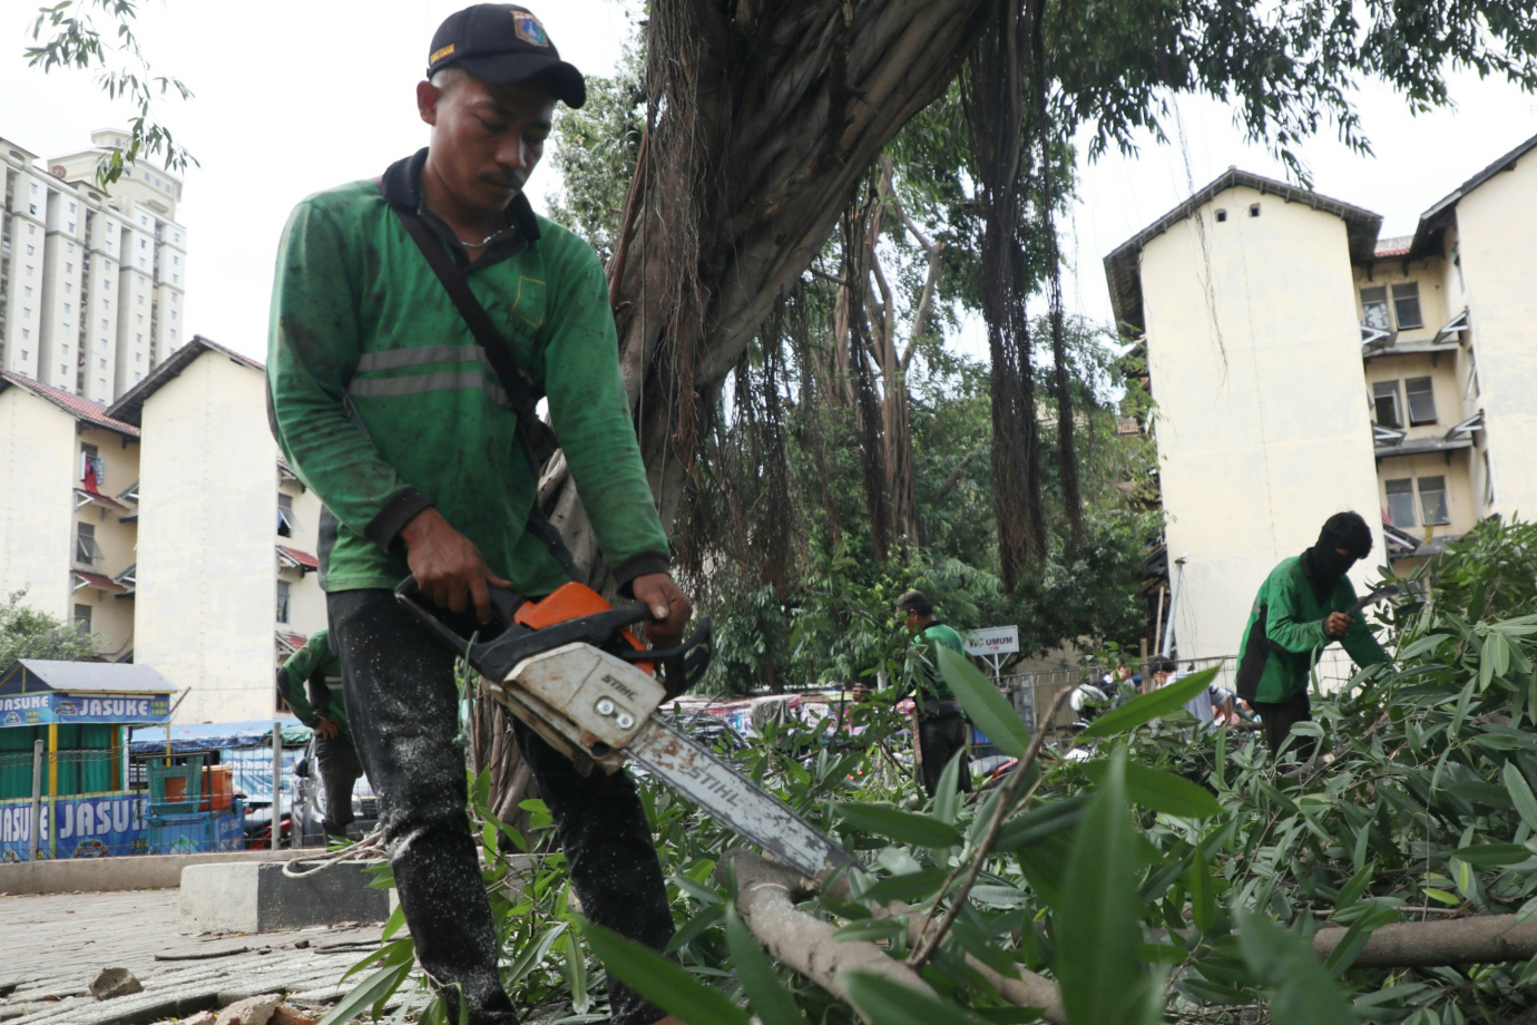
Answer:
[{"label": "blank cream building wall cut off by the right photo edge", "polygon": [[[1451,232],[1448,232],[1451,235]],[[1456,246],[1472,310],[1494,510],[1537,518],[1537,152],[1457,203]]]}]

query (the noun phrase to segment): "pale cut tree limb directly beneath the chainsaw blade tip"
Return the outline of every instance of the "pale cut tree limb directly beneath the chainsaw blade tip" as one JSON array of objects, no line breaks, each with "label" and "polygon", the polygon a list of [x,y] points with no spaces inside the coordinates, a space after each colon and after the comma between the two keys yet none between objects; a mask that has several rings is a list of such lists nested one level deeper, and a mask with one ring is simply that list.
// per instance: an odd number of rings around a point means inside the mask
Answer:
[{"label": "pale cut tree limb directly beneath the chainsaw blade tip", "polygon": [[727,851],[716,877],[727,865],[736,867],[736,910],[742,922],[781,965],[795,968],[844,1002],[848,1002],[848,988],[842,973],[848,970],[868,971],[934,994],[916,971],[893,960],[875,944],[836,940],[832,925],[798,911],[798,901],[816,894],[816,884],[810,879],[744,850]]}]

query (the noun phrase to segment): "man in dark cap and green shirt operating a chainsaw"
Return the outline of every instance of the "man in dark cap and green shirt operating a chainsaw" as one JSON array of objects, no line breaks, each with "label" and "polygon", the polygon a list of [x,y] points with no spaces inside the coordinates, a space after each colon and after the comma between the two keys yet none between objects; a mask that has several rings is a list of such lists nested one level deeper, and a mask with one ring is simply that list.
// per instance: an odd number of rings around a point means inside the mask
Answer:
[{"label": "man in dark cap and green shirt operating a chainsaw", "polygon": [[[475,1025],[518,1019],[466,816],[455,655],[390,589],[412,573],[437,605],[486,622],[489,587],[536,598],[570,579],[536,503],[543,395],[621,595],[655,618],[650,641],[676,642],[692,613],[669,575],[603,266],[524,195],[556,101],[584,98],[532,12],[450,15],[417,86],[429,146],[300,203],[272,298],[274,429],[332,513],[321,581],[354,738],[417,954],[449,1020],[463,994]],[[662,950],[673,922],[629,775],[581,776],[516,735],[586,916]],[[612,997],[618,1025],[669,1020],[621,984]]]}]

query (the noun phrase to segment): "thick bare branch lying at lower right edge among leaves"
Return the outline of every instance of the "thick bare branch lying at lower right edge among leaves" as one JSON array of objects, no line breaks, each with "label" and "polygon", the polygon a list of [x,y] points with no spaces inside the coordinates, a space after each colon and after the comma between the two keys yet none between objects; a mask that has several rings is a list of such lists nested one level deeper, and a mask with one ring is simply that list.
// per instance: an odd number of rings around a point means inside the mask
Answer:
[{"label": "thick bare branch lying at lower right edge among leaves", "polygon": [[[1323,960],[1345,937],[1328,925],[1313,936],[1313,954]],[[1353,968],[1440,968],[1537,956],[1537,922],[1515,924],[1514,914],[1486,914],[1451,922],[1394,922],[1366,940]]]}]

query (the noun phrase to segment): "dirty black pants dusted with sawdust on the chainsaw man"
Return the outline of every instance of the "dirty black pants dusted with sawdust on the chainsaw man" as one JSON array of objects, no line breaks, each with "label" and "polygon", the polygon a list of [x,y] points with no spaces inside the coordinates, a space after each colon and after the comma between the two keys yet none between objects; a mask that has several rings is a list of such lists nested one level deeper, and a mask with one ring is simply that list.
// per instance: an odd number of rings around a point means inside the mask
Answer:
[{"label": "dirty black pants dusted with sawdust on the chainsaw man", "polygon": [[[470,838],[453,652],[387,590],[337,592],[326,609],[352,738],[380,798],[417,957],[438,985],[463,988],[472,1025],[516,1022],[496,970],[496,928]],[[578,775],[521,724],[518,747],[555,819],[587,919],[662,950],[673,922],[635,782],[622,770]],[[615,1025],[662,1017],[622,984],[610,980],[609,993]],[[456,1017],[455,1008],[449,1020]]]}]

